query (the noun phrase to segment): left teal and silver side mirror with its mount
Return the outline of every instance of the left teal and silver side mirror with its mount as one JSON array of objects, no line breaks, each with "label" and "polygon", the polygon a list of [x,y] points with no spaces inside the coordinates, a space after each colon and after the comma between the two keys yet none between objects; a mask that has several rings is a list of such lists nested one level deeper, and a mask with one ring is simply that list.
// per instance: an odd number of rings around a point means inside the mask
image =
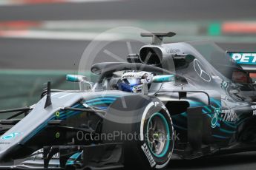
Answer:
[{"label": "left teal and silver side mirror with its mount", "polygon": [[78,82],[81,90],[93,89],[93,82],[88,81],[88,78],[84,75],[67,75],[66,80],[70,82]]}]

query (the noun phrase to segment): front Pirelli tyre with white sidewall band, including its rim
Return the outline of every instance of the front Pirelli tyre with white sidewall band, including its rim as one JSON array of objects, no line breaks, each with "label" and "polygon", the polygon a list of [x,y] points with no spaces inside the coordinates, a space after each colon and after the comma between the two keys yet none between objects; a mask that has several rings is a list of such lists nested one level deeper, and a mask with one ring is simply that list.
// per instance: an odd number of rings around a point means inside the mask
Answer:
[{"label": "front Pirelli tyre with white sidewall band, including its rim", "polygon": [[171,115],[157,98],[131,95],[109,106],[103,143],[124,143],[125,168],[164,169],[174,149]]}]

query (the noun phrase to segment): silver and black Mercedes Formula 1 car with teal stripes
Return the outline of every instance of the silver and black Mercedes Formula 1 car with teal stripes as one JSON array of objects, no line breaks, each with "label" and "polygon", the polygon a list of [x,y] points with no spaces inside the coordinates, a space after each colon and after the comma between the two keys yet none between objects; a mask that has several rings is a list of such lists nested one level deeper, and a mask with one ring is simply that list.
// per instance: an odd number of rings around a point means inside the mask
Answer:
[{"label": "silver and black Mercedes Formula 1 car with teal stripes", "polygon": [[[0,169],[163,169],[171,159],[256,150],[255,84],[210,41],[153,41],[127,62],[94,64],[88,90],[42,92],[0,137]],[[24,118],[18,119],[24,114]]]}]

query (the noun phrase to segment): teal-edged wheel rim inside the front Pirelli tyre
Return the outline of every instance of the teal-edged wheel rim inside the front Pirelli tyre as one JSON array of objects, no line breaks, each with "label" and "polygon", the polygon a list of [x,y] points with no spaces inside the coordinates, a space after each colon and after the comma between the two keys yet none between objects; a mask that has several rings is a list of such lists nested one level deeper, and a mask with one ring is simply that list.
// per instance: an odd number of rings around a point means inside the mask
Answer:
[{"label": "teal-edged wheel rim inside the front Pirelli tyre", "polygon": [[170,145],[170,129],[163,114],[151,115],[147,125],[147,141],[151,153],[155,157],[163,157]]}]

